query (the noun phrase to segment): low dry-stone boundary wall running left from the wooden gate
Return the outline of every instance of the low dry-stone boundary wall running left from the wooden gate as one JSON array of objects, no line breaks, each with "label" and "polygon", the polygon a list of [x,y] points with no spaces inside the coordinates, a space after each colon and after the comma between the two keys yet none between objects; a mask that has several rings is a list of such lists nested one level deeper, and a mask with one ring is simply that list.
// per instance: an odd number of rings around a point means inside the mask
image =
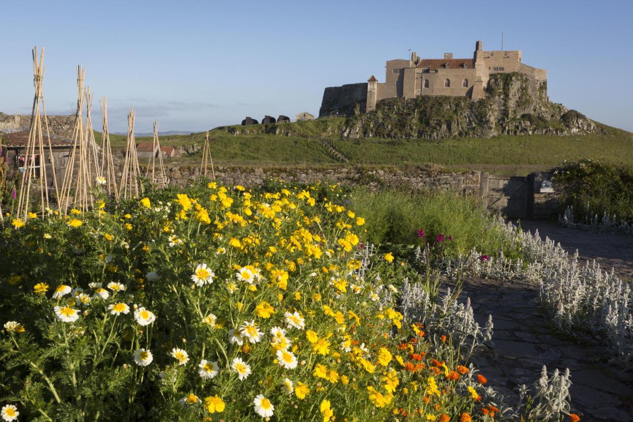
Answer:
[{"label": "low dry-stone boundary wall running left from the wooden gate", "polygon": [[[141,173],[145,168],[141,167]],[[184,187],[198,180],[199,166],[165,167],[171,185]],[[208,169],[211,178],[211,168]],[[384,187],[404,187],[411,190],[453,190],[465,195],[480,195],[479,171],[391,170],[382,168],[262,168],[216,166],[216,180],[227,185],[250,188],[261,186],[265,178],[279,178],[286,182],[313,183],[319,180],[350,186],[367,186],[378,190]]]}]

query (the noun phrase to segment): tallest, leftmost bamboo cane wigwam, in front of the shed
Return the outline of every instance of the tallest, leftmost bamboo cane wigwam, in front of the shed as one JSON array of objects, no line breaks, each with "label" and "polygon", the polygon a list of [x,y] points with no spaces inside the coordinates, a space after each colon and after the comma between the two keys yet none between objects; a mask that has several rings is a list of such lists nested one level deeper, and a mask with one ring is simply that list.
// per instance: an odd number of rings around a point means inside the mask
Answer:
[{"label": "tallest, leftmost bamboo cane wigwam, in front of the shed", "polygon": [[[42,114],[40,113],[40,104],[42,106],[44,122],[46,126],[46,136],[48,139],[49,158],[51,159],[51,176],[53,177],[53,186],[55,196],[57,197],[58,186],[55,177],[55,162],[53,156],[53,147],[51,146],[51,137],[48,130],[48,119],[46,117],[46,106],[44,106],[44,94],[42,94],[42,83],[44,80],[44,70],[42,65],[44,58],[44,48],[37,57],[37,46],[32,50],[33,54],[33,85],[35,87],[35,97],[31,112],[30,130],[28,132],[27,147],[25,150],[24,167],[22,169],[22,182],[20,183],[20,196],[18,197],[18,218],[25,220],[28,217],[28,206],[30,203],[31,179],[35,178],[35,170],[39,170],[39,190],[41,200],[41,216],[44,216],[46,209],[49,209],[49,192],[48,192],[48,175],[46,173],[46,164],[44,162],[44,140],[42,131]],[[37,152],[37,154],[36,154]],[[37,164],[36,158],[39,158]]]}]

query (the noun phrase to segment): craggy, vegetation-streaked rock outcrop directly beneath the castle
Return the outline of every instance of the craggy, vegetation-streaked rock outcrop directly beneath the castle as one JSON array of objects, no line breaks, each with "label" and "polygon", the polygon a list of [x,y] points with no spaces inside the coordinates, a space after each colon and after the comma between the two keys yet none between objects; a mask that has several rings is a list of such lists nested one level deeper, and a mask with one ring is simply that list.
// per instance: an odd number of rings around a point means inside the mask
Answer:
[{"label": "craggy, vegetation-streaked rock outcrop directly beneath the castle", "polygon": [[418,96],[377,102],[349,121],[344,137],[441,139],[496,135],[572,135],[600,130],[586,116],[549,102],[547,83],[524,73],[496,73],[486,97]]}]

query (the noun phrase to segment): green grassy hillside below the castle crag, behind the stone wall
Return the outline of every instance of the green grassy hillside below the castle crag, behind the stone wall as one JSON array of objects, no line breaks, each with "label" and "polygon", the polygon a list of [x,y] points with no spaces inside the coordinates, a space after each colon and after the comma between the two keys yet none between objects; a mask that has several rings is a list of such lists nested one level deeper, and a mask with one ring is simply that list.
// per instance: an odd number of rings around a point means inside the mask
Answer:
[{"label": "green grassy hillside below the castle crag, behind the stone wall", "polygon": [[[489,171],[501,175],[523,175],[547,170],[586,157],[633,164],[633,133],[596,123],[598,133],[587,135],[499,135],[489,139],[380,139],[341,137],[349,120],[343,118],[299,121],[279,125],[218,127],[210,131],[216,165],[253,166],[420,166],[439,164],[450,168]],[[323,147],[320,135],[349,159],[341,163]],[[113,149],[124,151],[126,137],[111,135]],[[136,138],[137,142],[151,137]],[[98,133],[97,142],[101,142]],[[204,145],[203,134],[177,135],[160,139],[161,145]],[[201,152],[167,159],[168,165],[196,164]],[[143,163],[141,163],[143,164]]]}]

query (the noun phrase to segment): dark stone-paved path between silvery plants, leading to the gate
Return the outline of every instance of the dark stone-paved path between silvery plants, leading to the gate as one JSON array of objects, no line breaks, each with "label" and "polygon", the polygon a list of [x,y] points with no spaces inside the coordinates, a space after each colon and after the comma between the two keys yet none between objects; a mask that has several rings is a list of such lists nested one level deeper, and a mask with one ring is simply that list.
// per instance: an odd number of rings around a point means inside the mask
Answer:
[{"label": "dark stone-paved path between silvery plants, leading to the gate", "polygon": [[[633,237],[596,235],[549,222],[526,221],[522,227],[532,232],[538,228],[542,237],[548,235],[572,253],[579,249],[581,256],[596,258],[603,268],[613,266],[622,278],[633,274]],[[586,422],[633,421],[633,371],[607,364],[606,347],[594,345],[590,338],[579,342],[553,333],[549,321],[537,313],[536,285],[472,278],[465,282],[461,297],[471,298],[481,326],[492,314],[494,347],[477,362],[487,385],[516,397],[516,387],[535,382],[543,365],[548,372],[569,368],[572,413]]]}]

